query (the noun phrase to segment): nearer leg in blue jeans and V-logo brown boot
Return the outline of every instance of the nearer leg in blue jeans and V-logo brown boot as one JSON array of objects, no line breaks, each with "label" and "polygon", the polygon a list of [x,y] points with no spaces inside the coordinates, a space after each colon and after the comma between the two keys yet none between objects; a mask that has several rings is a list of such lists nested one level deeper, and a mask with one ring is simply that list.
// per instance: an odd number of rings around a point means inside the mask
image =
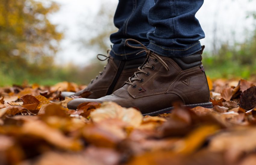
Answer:
[{"label": "nearer leg in blue jeans and V-logo brown boot", "polygon": [[[175,1],[175,2],[174,2]],[[112,101],[122,107],[137,107],[144,115],[173,110],[175,103],[186,108],[212,108],[210,91],[202,65],[204,38],[195,13],[203,0],[155,0],[149,12],[150,44],[126,40],[132,48],[147,54],[142,67],[112,95],[99,99],[75,99],[67,107],[76,109],[83,102]],[[134,46],[138,44],[139,46]]]}]

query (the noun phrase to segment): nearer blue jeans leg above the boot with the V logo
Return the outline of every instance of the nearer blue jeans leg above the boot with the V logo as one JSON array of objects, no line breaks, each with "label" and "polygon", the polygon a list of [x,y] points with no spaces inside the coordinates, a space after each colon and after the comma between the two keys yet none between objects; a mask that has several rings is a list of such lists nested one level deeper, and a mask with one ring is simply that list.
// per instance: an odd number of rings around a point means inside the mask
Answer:
[{"label": "nearer blue jeans leg above the boot with the V logo", "polygon": [[168,57],[184,57],[201,50],[204,32],[195,13],[204,0],[155,0],[148,21],[155,32],[148,33],[148,49]]}]

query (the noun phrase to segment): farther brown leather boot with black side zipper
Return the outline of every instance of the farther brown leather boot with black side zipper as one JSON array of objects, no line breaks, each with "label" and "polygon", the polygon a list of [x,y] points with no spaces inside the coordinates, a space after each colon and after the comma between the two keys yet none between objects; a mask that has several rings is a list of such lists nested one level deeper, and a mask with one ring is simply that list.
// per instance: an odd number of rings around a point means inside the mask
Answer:
[{"label": "farther brown leather boot with black side zipper", "polygon": [[[99,54],[101,55],[101,54]],[[99,56],[98,55],[98,56]],[[106,95],[111,95],[114,91],[119,89],[123,82],[126,81],[129,76],[133,75],[138,70],[146,57],[140,57],[132,60],[117,60],[111,56],[105,56],[104,60],[108,59],[108,64],[104,67],[105,69],[100,72],[96,79],[93,79],[91,83],[83,90],[74,92],[62,92],[63,98],[71,97],[72,95],[81,96],[82,98],[97,99]],[[88,92],[92,94],[88,96]]]}]

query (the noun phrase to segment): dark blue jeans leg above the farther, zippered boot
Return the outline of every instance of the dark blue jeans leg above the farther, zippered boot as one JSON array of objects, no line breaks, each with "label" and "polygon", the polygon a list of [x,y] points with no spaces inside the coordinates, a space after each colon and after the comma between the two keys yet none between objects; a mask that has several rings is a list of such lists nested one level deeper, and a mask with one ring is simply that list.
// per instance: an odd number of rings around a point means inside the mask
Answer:
[{"label": "dark blue jeans leg above the farther, zippered boot", "polygon": [[147,33],[155,30],[155,27],[148,23],[148,10],[153,5],[154,0],[119,0],[114,16],[114,24],[119,30],[110,36],[110,40],[114,44],[110,52],[112,57],[123,60],[145,55],[136,56],[139,51],[134,51],[126,46],[125,40],[132,38],[146,46],[149,44]]}]

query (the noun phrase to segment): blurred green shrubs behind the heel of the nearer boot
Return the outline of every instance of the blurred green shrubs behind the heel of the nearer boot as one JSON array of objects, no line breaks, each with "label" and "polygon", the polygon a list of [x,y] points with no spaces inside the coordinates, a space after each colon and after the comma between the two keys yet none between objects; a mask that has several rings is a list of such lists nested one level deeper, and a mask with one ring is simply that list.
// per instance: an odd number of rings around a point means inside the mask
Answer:
[{"label": "blurred green shrubs behind the heel of the nearer boot", "polygon": [[216,55],[207,53],[203,63],[211,78],[245,78],[256,75],[256,30],[242,44],[223,44]]}]

